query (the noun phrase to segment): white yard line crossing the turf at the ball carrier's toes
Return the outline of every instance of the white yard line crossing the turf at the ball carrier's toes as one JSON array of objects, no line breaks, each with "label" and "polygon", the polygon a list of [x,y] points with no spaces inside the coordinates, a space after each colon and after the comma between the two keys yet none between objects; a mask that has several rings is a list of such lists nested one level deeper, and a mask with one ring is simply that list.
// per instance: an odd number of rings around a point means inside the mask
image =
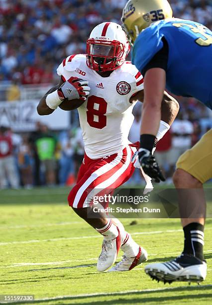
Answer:
[{"label": "white yard line crossing the turf at the ball carrier's toes", "polygon": [[[204,251],[204,253],[211,253],[212,250]],[[166,255],[179,255],[179,252],[167,252]],[[149,257],[164,257],[164,254],[158,254],[158,253],[152,253],[148,255]],[[1,266],[0,268],[16,268],[16,267],[27,267],[27,266],[51,266],[51,265],[65,265],[68,263],[81,263],[81,262],[88,262],[88,261],[95,261],[97,262],[98,258],[88,258],[88,259],[82,259],[82,260],[67,260],[67,261],[59,261],[59,262],[44,262],[44,263],[14,263],[9,266]],[[136,268],[134,270],[140,270],[143,268]],[[212,269],[208,269],[208,271],[211,271]]]}]

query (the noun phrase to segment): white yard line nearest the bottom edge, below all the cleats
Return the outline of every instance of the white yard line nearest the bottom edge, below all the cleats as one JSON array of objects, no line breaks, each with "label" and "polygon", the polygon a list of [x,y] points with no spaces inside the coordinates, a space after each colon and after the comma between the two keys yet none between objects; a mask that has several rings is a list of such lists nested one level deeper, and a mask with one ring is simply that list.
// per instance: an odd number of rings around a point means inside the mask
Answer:
[{"label": "white yard line nearest the bottom edge, below all the cleats", "polygon": [[[101,292],[101,293],[94,293],[94,294],[81,294],[81,295],[69,295],[69,296],[58,296],[53,298],[43,298],[43,299],[35,299],[35,302],[42,302],[42,301],[59,301],[59,300],[66,300],[66,299],[83,299],[83,298],[89,298],[89,297],[104,297],[104,296],[119,296],[119,295],[128,295],[128,294],[145,294],[145,293],[154,293],[154,292],[163,292],[163,291],[178,291],[179,289],[186,289],[189,291],[189,289],[193,288],[194,286],[180,286],[180,287],[164,287],[164,288],[157,288],[157,289],[144,289],[144,290],[125,290],[125,291],[115,291],[115,292]],[[200,285],[196,286],[197,289],[212,287],[212,285]],[[18,303],[18,302],[17,302]]]}]

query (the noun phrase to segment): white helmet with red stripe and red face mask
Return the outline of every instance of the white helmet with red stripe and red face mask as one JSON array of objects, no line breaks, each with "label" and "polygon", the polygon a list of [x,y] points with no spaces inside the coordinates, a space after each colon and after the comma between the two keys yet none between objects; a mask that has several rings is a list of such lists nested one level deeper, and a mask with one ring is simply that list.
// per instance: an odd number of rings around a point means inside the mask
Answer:
[{"label": "white helmet with red stripe and red face mask", "polygon": [[116,70],[124,63],[129,50],[126,34],[119,24],[101,23],[87,40],[87,65],[99,72]]}]

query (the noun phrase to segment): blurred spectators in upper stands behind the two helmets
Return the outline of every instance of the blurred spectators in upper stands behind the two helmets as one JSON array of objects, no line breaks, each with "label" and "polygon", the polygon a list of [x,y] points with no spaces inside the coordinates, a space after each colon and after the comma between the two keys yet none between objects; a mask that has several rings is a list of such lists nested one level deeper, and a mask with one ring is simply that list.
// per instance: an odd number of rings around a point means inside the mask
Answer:
[{"label": "blurred spectators in upper stands behind the two helmets", "polygon": [[[126,0],[0,0],[0,80],[54,82],[61,61],[85,53],[91,30],[120,23]],[[171,0],[174,16],[212,28],[211,0]]]}]

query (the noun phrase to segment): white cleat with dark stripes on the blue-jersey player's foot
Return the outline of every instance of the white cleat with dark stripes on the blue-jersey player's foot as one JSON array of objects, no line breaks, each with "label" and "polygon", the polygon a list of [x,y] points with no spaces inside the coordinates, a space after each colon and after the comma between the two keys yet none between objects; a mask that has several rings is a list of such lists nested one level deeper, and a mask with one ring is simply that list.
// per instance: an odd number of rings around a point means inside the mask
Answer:
[{"label": "white cleat with dark stripes on the blue-jersey player's foot", "polygon": [[170,262],[147,265],[144,270],[153,280],[162,281],[164,284],[200,283],[206,279],[207,264],[193,255],[182,254]]}]

